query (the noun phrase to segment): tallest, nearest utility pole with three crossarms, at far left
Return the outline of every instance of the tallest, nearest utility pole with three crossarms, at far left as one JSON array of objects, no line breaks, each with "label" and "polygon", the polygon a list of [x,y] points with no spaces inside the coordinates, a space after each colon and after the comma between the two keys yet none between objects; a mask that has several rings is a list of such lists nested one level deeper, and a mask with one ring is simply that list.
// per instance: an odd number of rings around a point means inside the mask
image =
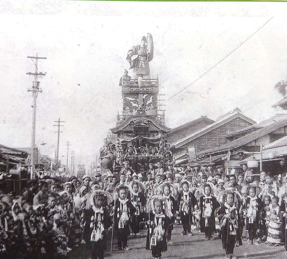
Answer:
[{"label": "tallest, nearest utility pole with three crossarms, at far left", "polygon": [[[38,81],[38,75],[46,75],[43,74],[42,72],[38,73],[38,59],[47,59],[46,57],[38,57],[38,53],[36,57],[30,57],[28,56],[27,58],[30,58],[33,63],[35,64],[35,73],[28,72],[26,75],[34,75],[34,81],[33,81],[33,86],[32,90],[28,89],[28,92],[32,92],[33,96],[33,105],[32,105],[32,138],[31,138],[31,179],[35,177],[35,136],[36,136],[36,102],[37,102],[37,96],[38,93],[42,93],[42,89],[39,87],[40,82]],[[35,62],[34,62],[35,59]]]}]

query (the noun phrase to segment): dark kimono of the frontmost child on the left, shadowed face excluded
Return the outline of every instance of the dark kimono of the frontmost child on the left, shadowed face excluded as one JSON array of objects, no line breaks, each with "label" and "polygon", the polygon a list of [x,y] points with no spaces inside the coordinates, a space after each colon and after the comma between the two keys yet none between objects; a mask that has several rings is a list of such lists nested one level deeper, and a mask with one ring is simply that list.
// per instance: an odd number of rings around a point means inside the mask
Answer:
[{"label": "dark kimono of the frontmost child on the left, shadowed face excluded", "polygon": [[107,207],[97,208],[95,205],[85,213],[83,237],[92,250],[92,259],[102,259],[107,248],[106,232],[112,225]]}]

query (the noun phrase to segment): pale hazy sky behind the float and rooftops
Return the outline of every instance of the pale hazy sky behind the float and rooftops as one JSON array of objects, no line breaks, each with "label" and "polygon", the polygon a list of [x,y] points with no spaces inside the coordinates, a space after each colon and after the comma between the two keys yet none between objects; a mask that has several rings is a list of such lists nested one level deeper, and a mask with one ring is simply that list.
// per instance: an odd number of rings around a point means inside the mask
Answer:
[{"label": "pale hazy sky behind the float and rooftops", "polygon": [[171,128],[201,115],[216,119],[235,107],[257,122],[275,114],[271,106],[282,96],[274,86],[287,79],[287,3],[0,0],[0,144],[31,145],[27,88],[34,77],[26,73],[34,64],[28,55],[47,57],[39,60],[39,72],[47,72],[38,78],[41,154],[54,157],[53,125],[60,117],[59,158],[66,163],[69,140],[75,164],[88,169],[121,114],[119,78],[129,68],[127,51],[143,35],[153,36],[151,75],[159,75],[159,91],[168,99],[272,17],[165,103]]}]

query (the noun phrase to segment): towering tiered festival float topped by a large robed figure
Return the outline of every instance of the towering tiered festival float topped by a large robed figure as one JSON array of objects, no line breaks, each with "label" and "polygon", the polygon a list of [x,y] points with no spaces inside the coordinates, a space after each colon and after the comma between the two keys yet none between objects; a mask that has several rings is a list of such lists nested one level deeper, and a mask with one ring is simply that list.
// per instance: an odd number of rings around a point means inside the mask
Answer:
[{"label": "towering tiered festival float topped by a large robed figure", "polygon": [[122,113],[118,113],[116,126],[110,129],[113,137],[105,139],[100,150],[101,166],[115,175],[128,164],[132,171],[145,178],[150,164],[167,171],[167,165],[173,162],[170,144],[165,138],[171,129],[165,125],[160,105],[159,79],[150,78],[153,49],[152,35],[148,33],[140,45],[128,50],[127,61],[133,76],[125,70],[120,79]]}]

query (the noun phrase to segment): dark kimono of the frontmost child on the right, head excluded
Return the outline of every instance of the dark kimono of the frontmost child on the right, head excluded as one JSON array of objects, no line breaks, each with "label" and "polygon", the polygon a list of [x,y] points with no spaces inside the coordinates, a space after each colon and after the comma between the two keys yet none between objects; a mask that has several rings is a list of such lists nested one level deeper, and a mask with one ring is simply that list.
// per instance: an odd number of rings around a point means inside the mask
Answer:
[{"label": "dark kimono of the frontmost child on the right, head excluded", "polygon": [[[224,215],[230,214],[230,218],[224,218]],[[233,254],[235,243],[242,245],[239,217],[239,208],[233,204],[231,207],[225,202],[217,211],[218,220],[220,221],[222,247],[226,254]]]}]

